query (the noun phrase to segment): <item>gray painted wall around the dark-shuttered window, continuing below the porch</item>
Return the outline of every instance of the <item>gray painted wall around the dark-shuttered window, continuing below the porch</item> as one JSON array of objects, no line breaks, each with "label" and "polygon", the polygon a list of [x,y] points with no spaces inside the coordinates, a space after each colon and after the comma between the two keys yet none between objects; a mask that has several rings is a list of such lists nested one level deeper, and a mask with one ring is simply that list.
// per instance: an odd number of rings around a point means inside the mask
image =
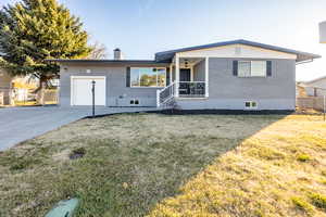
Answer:
[{"label": "gray painted wall around the dark-shuttered window, continuing below the porch", "polygon": [[296,108],[294,60],[272,61],[272,77],[241,78],[233,75],[234,60],[209,59],[209,98],[200,100],[177,99],[184,110],[243,110],[244,101],[256,101],[258,110]]}]

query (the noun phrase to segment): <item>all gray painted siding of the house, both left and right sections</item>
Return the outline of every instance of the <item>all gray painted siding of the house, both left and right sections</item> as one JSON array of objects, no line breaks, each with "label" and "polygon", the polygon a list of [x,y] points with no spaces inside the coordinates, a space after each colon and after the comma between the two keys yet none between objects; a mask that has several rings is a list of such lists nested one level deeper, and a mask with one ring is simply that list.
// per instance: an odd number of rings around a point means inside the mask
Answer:
[{"label": "all gray painted siding of the house, both left and right sections", "polygon": [[[244,101],[256,101],[258,110],[296,108],[294,60],[268,60],[272,61],[272,76],[264,78],[234,76],[234,60],[243,59],[210,58],[209,98],[176,99],[177,106],[183,110],[243,110]],[[205,62],[202,61],[195,67],[195,80],[204,80],[204,65]],[[60,104],[71,105],[71,76],[105,76],[106,106],[133,106],[129,102],[134,99],[139,100],[138,106],[156,106],[156,90],[160,88],[126,87],[127,66],[129,65],[62,65]],[[86,69],[91,69],[91,73],[87,74]]]}]

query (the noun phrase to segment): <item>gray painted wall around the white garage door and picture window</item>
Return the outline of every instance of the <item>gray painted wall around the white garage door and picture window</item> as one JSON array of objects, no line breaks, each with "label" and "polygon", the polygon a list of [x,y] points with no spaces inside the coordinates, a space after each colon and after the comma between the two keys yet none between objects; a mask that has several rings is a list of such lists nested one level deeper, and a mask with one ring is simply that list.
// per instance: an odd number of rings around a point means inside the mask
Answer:
[{"label": "gray painted wall around the white garage door and picture window", "polygon": [[[126,87],[126,65],[62,65],[60,73],[60,104],[62,106],[71,105],[71,76],[84,75],[106,77],[106,106],[156,106],[156,90],[160,88]],[[86,69],[90,69],[91,73],[86,73]],[[139,105],[131,105],[130,100],[139,100]]]}]

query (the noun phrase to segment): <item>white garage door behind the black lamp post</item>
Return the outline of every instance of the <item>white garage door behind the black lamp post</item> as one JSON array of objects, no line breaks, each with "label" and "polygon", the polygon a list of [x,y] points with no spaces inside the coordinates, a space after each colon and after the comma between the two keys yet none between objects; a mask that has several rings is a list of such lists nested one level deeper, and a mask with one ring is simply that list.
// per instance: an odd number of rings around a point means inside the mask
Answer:
[{"label": "white garage door behind the black lamp post", "polygon": [[104,76],[72,76],[72,105],[91,105],[91,81],[96,81],[95,104],[105,105],[105,77]]}]

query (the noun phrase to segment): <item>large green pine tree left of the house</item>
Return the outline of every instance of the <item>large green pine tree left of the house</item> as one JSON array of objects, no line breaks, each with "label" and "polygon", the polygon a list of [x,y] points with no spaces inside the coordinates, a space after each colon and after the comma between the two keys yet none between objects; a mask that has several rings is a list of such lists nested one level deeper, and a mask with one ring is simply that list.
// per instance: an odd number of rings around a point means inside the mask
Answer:
[{"label": "large green pine tree left of the house", "polygon": [[[40,84],[59,76],[47,59],[80,59],[91,53],[83,23],[57,0],[23,0],[0,10],[0,67],[34,75]],[[40,88],[42,85],[40,85]]]}]

